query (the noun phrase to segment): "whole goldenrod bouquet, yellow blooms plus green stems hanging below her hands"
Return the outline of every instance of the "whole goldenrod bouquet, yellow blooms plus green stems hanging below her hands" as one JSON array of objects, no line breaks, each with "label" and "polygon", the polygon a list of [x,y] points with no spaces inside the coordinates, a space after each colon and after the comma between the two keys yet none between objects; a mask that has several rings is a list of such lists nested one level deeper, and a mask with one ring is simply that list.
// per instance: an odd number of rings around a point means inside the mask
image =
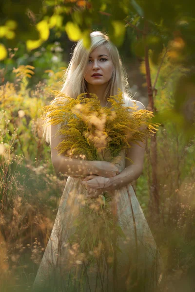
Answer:
[{"label": "whole goldenrod bouquet, yellow blooms plus green stems hanging below her hands", "polygon": [[[158,126],[151,121],[151,111],[137,110],[136,104],[124,107],[121,91],[108,98],[110,108],[101,107],[95,94],[86,98],[83,93],[74,99],[59,91],[54,93],[55,102],[43,109],[50,124],[60,125],[57,134],[64,139],[57,149],[65,156],[112,162],[123,148],[130,147],[130,142],[144,142]],[[79,200],[82,203],[73,222],[75,232],[67,244],[74,255],[71,264],[84,265],[81,274],[85,281],[87,267],[93,268],[94,263],[98,271],[104,270],[103,259],[109,267],[114,265],[116,250],[121,252],[117,237],[125,240],[125,235],[112,210],[112,198],[106,193],[96,199],[83,198],[83,194],[79,194]],[[71,275],[70,272],[70,276],[75,280],[74,273]]]}]

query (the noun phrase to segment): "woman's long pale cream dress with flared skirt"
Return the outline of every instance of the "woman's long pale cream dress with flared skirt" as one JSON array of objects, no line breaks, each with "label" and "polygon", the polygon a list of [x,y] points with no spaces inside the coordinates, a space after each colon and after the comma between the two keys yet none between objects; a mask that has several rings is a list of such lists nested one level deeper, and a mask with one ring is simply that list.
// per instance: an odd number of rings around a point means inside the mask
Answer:
[{"label": "woman's long pale cream dress with flared skirt", "polygon": [[[126,106],[128,102],[129,99]],[[125,168],[125,149],[113,163],[117,163],[120,172]],[[114,247],[112,264],[106,253],[88,265],[77,259],[79,247],[76,244],[71,249],[68,240],[75,233],[75,219],[80,218],[82,196],[79,195],[86,194],[81,181],[81,178],[68,176],[33,291],[158,292],[162,260],[131,183],[114,190],[110,202],[115,223],[123,232],[115,241],[118,248]],[[96,222],[94,224],[95,228]]]}]

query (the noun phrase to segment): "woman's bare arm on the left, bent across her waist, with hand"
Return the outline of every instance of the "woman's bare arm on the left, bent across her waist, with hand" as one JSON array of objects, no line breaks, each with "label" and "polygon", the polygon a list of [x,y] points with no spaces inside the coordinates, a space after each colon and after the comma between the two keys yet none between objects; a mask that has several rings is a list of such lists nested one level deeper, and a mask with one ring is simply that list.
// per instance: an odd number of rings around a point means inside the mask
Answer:
[{"label": "woman's bare arm on the left, bent across her waist, with hand", "polygon": [[117,174],[118,169],[114,164],[104,161],[87,161],[58,155],[55,149],[61,140],[56,135],[58,125],[51,125],[51,158],[56,172],[69,175],[71,177],[81,177],[90,174],[113,177]]}]

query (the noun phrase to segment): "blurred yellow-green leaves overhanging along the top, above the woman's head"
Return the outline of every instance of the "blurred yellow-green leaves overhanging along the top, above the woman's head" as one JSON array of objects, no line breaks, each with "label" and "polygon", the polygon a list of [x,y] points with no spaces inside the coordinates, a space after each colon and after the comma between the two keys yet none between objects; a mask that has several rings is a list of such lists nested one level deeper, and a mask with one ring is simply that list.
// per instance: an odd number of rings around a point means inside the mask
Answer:
[{"label": "blurred yellow-green leaves overhanging along the top, above the woman's head", "polygon": [[147,45],[154,50],[156,61],[163,44],[167,45],[176,37],[183,38],[185,50],[179,55],[180,61],[184,57],[183,61],[187,62],[190,56],[190,61],[193,60],[195,45],[192,37],[195,31],[194,6],[193,0],[156,0],[155,3],[152,0],[35,0],[33,3],[3,0],[0,3],[0,37],[5,46],[16,46],[20,40],[26,41],[27,48],[32,50],[49,38],[51,30],[58,37],[65,31],[73,41],[83,38],[88,47],[89,32],[98,27],[108,31],[111,40],[120,46],[124,41],[126,23],[126,26],[136,29],[139,37],[141,33],[147,35]]}]

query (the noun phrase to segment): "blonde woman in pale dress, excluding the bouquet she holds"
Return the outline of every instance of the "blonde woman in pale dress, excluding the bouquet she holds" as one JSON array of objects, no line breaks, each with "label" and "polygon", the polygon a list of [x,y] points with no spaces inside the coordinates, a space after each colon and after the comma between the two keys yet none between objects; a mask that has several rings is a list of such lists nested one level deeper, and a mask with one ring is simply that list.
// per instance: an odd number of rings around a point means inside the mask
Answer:
[{"label": "blonde woman in pale dress, excluding the bouquet she holds", "polygon": [[[107,97],[117,94],[119,88],[123,92],[125,106],[133,106],[126,91],[128,83],[117,48],[100,32],[93,32],[90,36],[90,52],[83,47],[82,41],[78,41],[65,73],[62,92],[74,98],[83,92],[88,92],[89,98],[89,93],[95,93],[101,106],[109,107]],[[142,103],[135,102],[138,110],[145,109]],[[58,155],[56,146],[62,137],[56,135],[57,130],[58,126],[54,125],[45,128],[46,140],[51,145],[55,170],[67,174],[68,179],[34,282],[35,291],[157,292],[161,259],[131,184],[142,172],[145,144],[140,142],[140,146],[132,145],[127,153],[122,151],[113,163],[81,163],[76,158]],[[134,164],[125,156],[133,160]],[[77,261],[76,266],[71,266],[70,254],[75,254],[78,246],[70,250],[67,240],[74,233],[73,222],[78,216],[78,198],[83,194],[96,198],[105,191],[112,196],[113,212],[125,235],[125,240],[118,238],[120,252],[116,251],[114,263],[109,267],[108,258],[103,259],[103,271],[98,270],[96,265],[93,268],[83,266],[81,261]],[[80,280],[83,273],[86,274],[85,282]]]}]

